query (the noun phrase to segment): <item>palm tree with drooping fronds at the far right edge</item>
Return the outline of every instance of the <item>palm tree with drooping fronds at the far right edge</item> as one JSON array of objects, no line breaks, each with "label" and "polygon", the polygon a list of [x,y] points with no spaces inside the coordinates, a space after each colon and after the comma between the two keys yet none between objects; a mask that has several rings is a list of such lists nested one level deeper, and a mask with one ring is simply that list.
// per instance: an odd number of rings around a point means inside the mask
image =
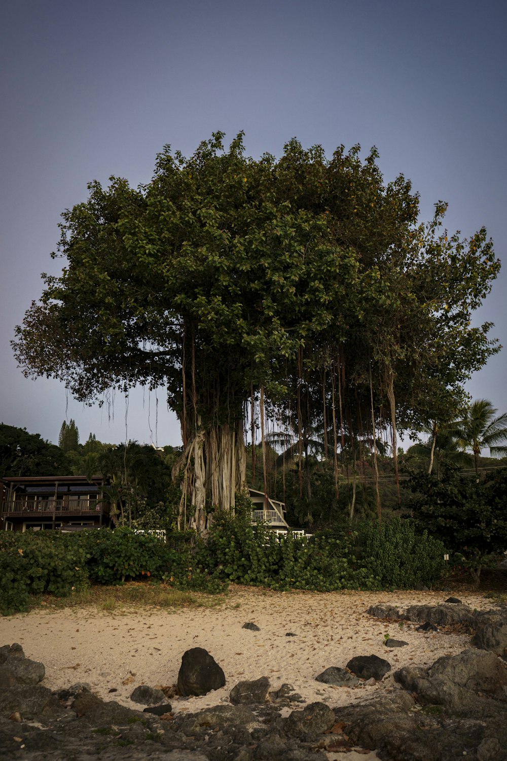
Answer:
[{"label": "palm tree with drooping fronds at the far right edge", "polygon": [[461,448],[474,453],[476,476],[481,449],[489,449],[491,457],[507,455],[507,412],[495,417],[497,411],[487,399],[476,399],[464,410],[462,419],[453,423]]}]

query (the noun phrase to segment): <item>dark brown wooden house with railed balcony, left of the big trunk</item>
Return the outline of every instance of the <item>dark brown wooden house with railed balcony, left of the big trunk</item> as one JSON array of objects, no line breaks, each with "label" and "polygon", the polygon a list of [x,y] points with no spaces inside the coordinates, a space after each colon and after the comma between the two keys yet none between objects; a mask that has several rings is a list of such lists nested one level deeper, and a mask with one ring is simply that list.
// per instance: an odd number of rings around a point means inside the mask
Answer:
[{"label": "dark brown wooden house with railed balcony, left of the big trunk", "polygon": [[0,530],[100,528],[111,524],[104,479],[5,476],[0,481]]}]

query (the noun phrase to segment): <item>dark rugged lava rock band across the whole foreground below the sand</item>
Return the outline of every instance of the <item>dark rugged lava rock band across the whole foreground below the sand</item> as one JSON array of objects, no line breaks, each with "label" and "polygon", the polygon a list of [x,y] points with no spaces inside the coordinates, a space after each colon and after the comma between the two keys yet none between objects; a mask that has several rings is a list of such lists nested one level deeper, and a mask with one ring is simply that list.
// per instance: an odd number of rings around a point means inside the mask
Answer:
[{"label": "dark rugged lava rock band across the whole foreground below the sand", "polygon": [[[21,653],[14,657],[23,661]],[[1,761],[328,761],[327,752],[358,746],[382,761],[507,759],[507,664],[477,648],[404,667],[394,686],[365,702],[315,702],[287,718],[280,709],[301,698],[289,684],[268,693],[268,677],[240,683],[237,705],[231,693],[230,703],[159,716],[104,702],[84,683],[54,693],[28,686],[8,668],[2,664]]]}]

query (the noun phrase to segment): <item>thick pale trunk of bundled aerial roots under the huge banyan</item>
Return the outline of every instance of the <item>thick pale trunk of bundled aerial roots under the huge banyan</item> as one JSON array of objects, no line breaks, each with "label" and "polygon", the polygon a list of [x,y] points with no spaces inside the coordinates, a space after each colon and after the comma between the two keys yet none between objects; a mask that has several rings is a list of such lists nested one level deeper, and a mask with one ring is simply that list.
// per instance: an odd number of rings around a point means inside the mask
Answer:
[{"label": "thick pale trunk of bundled aerial roots under the huge banyan", "polygon": [[[203,534],[214,509],[233,509],[235,492],[246,489],[243,425],[239,421],[236,429],[226,423],[205,430],[198,419],[197,431],[192,435],[187,428],[187,435],[185,451],[173,467],[175,480],[184,470],[180,523]],[[186,505],[192,505],[188,520]]]}]

